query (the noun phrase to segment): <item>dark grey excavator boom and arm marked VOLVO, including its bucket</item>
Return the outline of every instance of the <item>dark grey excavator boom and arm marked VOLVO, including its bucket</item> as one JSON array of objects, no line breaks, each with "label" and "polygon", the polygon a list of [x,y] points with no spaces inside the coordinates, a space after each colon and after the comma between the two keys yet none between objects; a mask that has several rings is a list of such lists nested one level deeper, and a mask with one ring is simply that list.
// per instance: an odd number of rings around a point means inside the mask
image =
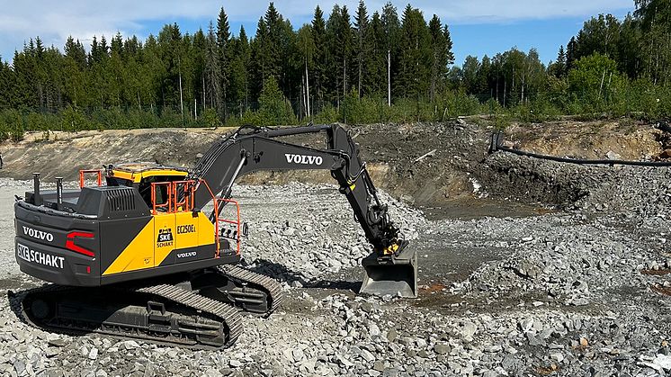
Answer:
[{"label": "dark grey excavator boom and arm marked VOLVO, including its bucket", "polygon": [[[306,133],[325,133],[326,148],[277,139]],[[359,157],[359,146],[347,130],[337,124],[282,129],[243,126],[215,143],[188,176],[207,183],[196,187],[194,206],[202,209],[210,202],[210,190],[228,199],[238,177],[260,170],[329,170],[373,249],[362,261],[361,292],[416,297],[416,253],[410,251],[407,240],[389,220],[388,207],[380,202],[366,164]],[[221,208],[215,208],[210,220],[219,211]]]}]

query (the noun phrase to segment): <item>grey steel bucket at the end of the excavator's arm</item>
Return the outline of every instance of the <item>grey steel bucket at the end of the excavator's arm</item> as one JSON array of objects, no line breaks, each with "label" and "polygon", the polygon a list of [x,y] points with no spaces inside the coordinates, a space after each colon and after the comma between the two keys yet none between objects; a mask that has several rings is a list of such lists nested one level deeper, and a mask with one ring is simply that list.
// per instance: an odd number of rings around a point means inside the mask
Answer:
[{"label": "grey steel bucket at the end of the excavator's arm", "polygon": [[405,247],[398,256],[372,253],[362,259],[363,283],[360,293],[417,297],[417,253]]}]

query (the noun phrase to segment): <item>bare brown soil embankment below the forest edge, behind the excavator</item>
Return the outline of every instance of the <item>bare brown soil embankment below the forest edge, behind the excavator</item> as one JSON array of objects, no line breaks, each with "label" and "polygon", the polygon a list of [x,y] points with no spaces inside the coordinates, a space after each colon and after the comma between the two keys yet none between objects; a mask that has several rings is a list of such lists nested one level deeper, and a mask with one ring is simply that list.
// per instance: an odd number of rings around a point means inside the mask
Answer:
[{"label": "bare brown soil embankment below the forest edge, behind the excavator", "polygon": [[[585,184],[572,166],[550,166],[530,159],[488,156],[494,128],[484,118],[445,124],[376,124],[350,126],[361,145],[375,184],[404,202],[423,208],[452,208],[486,192],[490,199],[525,204],[567,204],[584,197]],[[199,153],[232,129],[104,130],[77,133],[29,133],[19,143],[0,146],[4,168],[0,176],[43,180],[55,176],[75,179],[79,169],[130,161],[155,161],[193,166]],[[648,124],[633,121],[557,121],[514,124],[506,142],[524,150],[555,156],[622,159],[659,157],[667,147],[664,135]],[[300,135],[285,140],[320,148],[323,135]],[[328,172],[258,172],[243,184],[290,182],[333,184]],[[480,190],[480,191],[479,191]],[[479,201],[486,205],[486,201]]]}]

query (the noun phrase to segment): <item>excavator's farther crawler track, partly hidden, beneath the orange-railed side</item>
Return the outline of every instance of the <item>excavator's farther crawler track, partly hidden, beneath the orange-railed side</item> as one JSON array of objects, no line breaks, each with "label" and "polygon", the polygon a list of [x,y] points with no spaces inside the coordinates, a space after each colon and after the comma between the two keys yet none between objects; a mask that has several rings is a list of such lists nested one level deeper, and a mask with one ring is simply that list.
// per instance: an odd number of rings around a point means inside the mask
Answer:
[{"label": "excavator's farther crawler track, partly hidden, beneath the orange-railed side", "polygon": [[[280,307],[284,298],[282,284],[270,276],[249,271],[238,265],[218,265],[217,271],[219,274],[226,275],[228,279],[237,283],[237,285],[248,286],[264,293],[265,297],[263,295],[255,295],[253,292],[247,293],[245,288],[231,291],[230,296],[235,301],[234,304],[242,310],[267,316]],[[258,300],[266,302],[263,310],[252,309],[258,307]],[[248,306],[247,304],[254,305]],[[263,306],[261,307],[263,308]]]}]

